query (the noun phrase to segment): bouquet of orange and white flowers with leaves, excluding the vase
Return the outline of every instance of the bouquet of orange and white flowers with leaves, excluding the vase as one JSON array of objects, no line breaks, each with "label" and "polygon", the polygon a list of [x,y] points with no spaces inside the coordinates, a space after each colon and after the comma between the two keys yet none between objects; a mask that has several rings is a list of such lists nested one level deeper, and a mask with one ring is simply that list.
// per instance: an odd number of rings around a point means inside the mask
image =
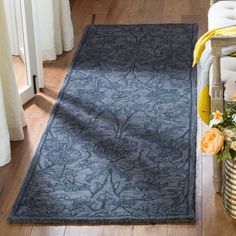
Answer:
[{"label": "bouquet of orange and white flowers with leaves, excluding the vase", "polygon": [[236,102],[223,114],[219,111],[210,116],[210,127],[201,139],[201,149],[218,160],[236,160]]}]

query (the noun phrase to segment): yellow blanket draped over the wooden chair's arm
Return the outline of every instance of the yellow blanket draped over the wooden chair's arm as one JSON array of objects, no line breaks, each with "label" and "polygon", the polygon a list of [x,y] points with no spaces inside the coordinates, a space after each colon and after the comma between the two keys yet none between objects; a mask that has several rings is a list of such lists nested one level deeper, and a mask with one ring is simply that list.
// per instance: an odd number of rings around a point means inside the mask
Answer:
[{"label": "yellow blanket draped over the wooden chair's arm", "polygon": [[[210,40],[213,36],[236,36],[236,26],[217,28],[205,33],[195,45],[193,66],[199,62],[201,55],[205,49],[206,42]],[[236,56],[236,52],[230,55]],[[202,121],[208,125],[210,122],[209,117],[211,113],[209,81],[206,81],[202,84],[203,86],[200,88],[200,93],[198,97],[198,114],[201,117]]]}]

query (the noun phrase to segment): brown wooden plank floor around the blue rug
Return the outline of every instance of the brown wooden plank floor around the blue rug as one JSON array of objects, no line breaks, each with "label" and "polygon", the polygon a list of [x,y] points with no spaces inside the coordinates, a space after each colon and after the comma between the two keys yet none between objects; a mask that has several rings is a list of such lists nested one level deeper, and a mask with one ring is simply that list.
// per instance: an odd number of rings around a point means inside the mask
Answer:
[{"label": "brown wooden plank floor around the blue rug", "polygon": [[[207,30],[209,0],[74,0],[72,17],[78,45],[83,28],[96,14],[95,24],[197,22],[200,34]],[[222,199],[214,194],[209,157],[199,158],[197,174],[197,222],[159,225],[9,225],[8,212],[27,173],[46,127],[58,91],[75,49],[44,66],[46,88],[24,106],[28,127],[25,140],[12,143],[12,162],[0,168],[0,236],[146,236],[236,235],[236,223],[224,214]]]}]

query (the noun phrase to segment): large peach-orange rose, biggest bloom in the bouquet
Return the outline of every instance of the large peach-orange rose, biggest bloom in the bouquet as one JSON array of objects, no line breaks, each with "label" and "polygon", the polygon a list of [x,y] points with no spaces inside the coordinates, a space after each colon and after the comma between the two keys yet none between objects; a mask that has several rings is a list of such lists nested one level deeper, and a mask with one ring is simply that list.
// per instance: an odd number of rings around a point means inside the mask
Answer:
[{"label": "large peach-orange rose, biggest bloom in the bouquet", "polygon": [[201,149],[203,152],[214,155],[224,146],[224,134],[216,128],[207,131],[201,140]]}]

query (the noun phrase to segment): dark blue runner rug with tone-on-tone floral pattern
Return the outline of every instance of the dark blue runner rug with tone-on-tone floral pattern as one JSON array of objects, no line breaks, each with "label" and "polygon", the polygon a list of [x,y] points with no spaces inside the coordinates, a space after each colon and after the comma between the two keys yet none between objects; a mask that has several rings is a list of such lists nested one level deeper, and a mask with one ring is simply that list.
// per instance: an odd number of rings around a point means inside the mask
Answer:
[{"label": "dark blue runner rug with tone-on-tone floral pattern", "polygon": [[9,222],[194,221],[196,35],[88,26]]}]

